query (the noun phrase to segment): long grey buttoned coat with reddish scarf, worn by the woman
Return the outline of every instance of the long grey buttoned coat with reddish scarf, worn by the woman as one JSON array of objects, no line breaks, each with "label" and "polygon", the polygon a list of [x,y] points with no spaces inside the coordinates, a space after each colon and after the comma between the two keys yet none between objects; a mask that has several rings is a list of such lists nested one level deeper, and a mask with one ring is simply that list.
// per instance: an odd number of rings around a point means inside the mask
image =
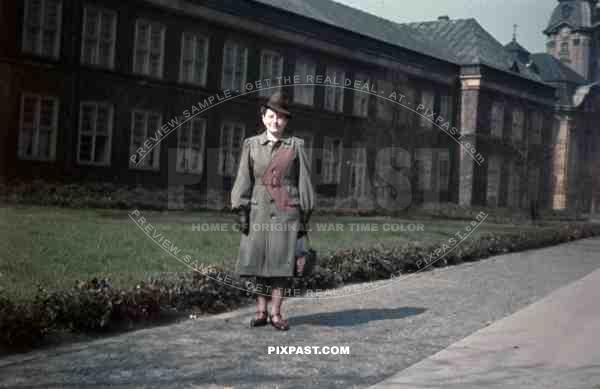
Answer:
[{"label": "long grey buttoned coat with reddish scarf, worn by the woman", "polygon": [[238,275],[293,276],[299,209],[315,206],[304,141],[289,137],[273,145],[266,131],[245,139],[231,205],[250,206],[250,232],[242,234]]}]

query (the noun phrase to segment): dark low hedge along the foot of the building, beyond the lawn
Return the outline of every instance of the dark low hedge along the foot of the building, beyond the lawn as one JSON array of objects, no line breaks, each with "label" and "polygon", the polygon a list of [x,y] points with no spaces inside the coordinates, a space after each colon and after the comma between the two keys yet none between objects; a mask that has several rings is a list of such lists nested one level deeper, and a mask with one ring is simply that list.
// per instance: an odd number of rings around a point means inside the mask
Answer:
[{"label": "dark low hedge along the foot of the building, beyond the lawn", "polygon": [[[151,210],[217,210],[230,211],[228,193],[198,190],[192,187],[172,188],[125,185],[112,182],[49,182],[45,180],[13,180],[0,183],[0,201],[9,204],[33,204],[69,208],[151,209]],[[353,207],[350,198],[335,199],[319,196],[316,215],[334,216],[394,216],[402,218],[435,218],[473,220],[480,212],[488,214],[492,223],[512,223],[528,220],[528,209],[463,207],[454,203],[412,204],[391,211],[383,208]],[[577,220],[571,211],[542,210],[544,220]]]}]

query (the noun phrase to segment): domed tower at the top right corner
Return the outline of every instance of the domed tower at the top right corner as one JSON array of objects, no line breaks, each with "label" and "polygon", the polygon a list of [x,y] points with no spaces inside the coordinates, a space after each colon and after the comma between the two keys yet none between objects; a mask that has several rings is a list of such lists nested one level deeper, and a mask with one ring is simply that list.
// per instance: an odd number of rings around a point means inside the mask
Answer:
[{"label": "domed tower at the top right corner", "polygon": [[598,0],[558,0],[544,34],[546,52],[589,81],[600,76]]}]

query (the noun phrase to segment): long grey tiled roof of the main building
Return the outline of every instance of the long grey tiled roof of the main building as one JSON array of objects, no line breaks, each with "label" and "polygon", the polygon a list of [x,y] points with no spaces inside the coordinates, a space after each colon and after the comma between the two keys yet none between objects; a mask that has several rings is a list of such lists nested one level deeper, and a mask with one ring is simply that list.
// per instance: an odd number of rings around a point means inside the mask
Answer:
[{"label": "long grey tiled roof of the main building", "polygon": [[[475,19],[400,24],[331,0],[254,1],[454,64],[485,64],[514,74],[510,53]],[[541,81],[525,64],[517,66],[520,75]]]}]

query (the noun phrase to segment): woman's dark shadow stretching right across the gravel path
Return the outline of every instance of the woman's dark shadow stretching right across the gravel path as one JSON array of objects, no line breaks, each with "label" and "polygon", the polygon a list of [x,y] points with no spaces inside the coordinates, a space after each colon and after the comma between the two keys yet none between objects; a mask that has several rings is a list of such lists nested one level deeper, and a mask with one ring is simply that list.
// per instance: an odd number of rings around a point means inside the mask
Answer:
[{"label": "woman's dark shadow stretching right across the gravel path", "polygon": [[327,327],[347,327],[365,324],[371,321],[403,319],[408,316],[420,315],[425,308],[401,307],[385,309],[350,309],[346,311],[317,313],[290,317],[290,325],[309,324]]}]

